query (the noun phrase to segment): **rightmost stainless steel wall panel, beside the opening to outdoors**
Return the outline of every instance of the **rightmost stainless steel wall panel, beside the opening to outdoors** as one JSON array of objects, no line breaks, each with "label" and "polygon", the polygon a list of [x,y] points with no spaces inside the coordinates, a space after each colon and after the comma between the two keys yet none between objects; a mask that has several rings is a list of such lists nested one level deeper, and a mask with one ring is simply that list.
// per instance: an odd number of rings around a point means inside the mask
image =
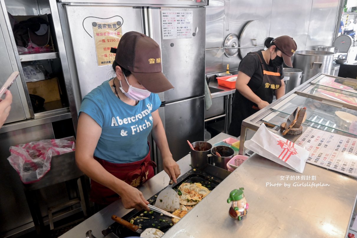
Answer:
[{"label": "rightmost stainless steel wall panel, beside the opening to outdoors", "polygon": [[[332,46],[339,0],[313,0],[306,46]],[[308,49],[308,48],[307,48]]]}]

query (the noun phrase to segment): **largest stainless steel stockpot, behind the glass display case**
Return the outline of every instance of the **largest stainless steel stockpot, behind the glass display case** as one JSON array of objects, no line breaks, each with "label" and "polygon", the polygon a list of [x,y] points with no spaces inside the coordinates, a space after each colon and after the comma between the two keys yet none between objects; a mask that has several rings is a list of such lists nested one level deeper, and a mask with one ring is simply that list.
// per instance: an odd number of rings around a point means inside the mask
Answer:
[{"label": "largest stainless steel stockpot, behind the glass display case", "polygon": [[315,76],[317,73],[331,73],[333,56],[335,53],[321,50],[296,51],[294,54],[293,68],[301,69],[304,75],[301,83]]}]

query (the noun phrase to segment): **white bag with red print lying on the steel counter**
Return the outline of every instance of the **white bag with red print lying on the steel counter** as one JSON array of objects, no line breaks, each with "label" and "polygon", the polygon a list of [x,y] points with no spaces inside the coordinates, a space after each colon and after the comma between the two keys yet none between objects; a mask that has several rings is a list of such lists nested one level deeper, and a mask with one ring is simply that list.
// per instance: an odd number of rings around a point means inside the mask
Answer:
[{"label": "white bag with red print lying on the steel counter", "polygon": [[261,124],[252,139],[245,141],[244,146],[258,155],[299,173],[304,171],[309,156],[306,149],[272,133],[264,123]]}]

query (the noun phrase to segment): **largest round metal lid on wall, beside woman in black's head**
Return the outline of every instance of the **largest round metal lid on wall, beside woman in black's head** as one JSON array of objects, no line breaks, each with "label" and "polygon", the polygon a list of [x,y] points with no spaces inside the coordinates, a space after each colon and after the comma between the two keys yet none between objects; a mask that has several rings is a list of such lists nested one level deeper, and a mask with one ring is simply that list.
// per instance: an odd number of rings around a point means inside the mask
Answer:
[{"label": "largest round metal lid on wall, beside woman in black's head", "polygon": [[268,33],[263,22],[259,20],[248,21],[248,23],[243,28],[241,36],[239,38],[239,47],[249,46],[251,48],[240,48],[240,57],[244,58],[249,52],[263,50],[264,41],[267,37]]}]

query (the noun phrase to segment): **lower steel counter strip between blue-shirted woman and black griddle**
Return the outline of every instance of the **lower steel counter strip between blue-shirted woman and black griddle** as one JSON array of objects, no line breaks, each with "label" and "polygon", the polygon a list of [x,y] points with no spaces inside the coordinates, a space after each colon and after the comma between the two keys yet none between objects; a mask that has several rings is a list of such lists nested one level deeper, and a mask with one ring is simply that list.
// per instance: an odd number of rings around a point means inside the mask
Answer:
[{"label": "lower steel counter strip between blue-shirted woman and black griddle", "polygon": [[[223,139],[231,137],[230,135],[220,133],[211,140],[208,140],[211,144],[215,144]],[[182,159],[177,161],[180,165],[181,175],[185,174],[191,169],[191,157],[186,155]],[[164,189],[169,183],[169,176],[165,171],[161,171],[159,174],[152,177],[150,180],[146,181],[139,190],[143,193],[146,199],[154,196],[157,192]],[[121,200],[118,200],[106,208],[102,209],[100,212],[95,213],[90,218],[86,219],[84,222],[80,223],[76,227],[72,228],[70,231],[66,232],[60,238],[74,238],[74,237],[85,237],[88,230],[92,230],[93,235],[96,238],[103,238],[102,230],[110,226],[114,221],[111,219],[112,215],[117,215],[123,217],[125,214],[129,213],[131,210],[125,209],[122,206]]]}]

